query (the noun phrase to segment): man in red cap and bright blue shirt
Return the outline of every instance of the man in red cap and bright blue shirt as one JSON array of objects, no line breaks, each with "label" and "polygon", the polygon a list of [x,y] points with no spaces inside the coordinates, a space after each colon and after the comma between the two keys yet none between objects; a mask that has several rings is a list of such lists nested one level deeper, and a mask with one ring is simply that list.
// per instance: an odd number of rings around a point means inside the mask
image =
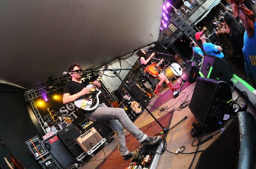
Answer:
[{"label": "man in red cap and bright blue shirt", "polygon": [[195,39],[201,40],[205,54],[224,58],[224,54],[221,52],[222,48],[220,46],[213,45],[212,43],[207,43],[206,36],[203,31],[197,32],[195,34]]}]

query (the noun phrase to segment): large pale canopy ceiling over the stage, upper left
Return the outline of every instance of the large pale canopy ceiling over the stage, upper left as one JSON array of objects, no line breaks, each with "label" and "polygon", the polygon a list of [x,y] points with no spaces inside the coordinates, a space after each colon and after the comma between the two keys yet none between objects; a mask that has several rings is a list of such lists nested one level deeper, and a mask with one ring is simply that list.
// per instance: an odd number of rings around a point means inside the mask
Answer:
[{"label": "large pale canopy ceiling over the stage, upper left", "polygon": [[163,0],[1,0],[0,80],[27,89],[158,38]]}]

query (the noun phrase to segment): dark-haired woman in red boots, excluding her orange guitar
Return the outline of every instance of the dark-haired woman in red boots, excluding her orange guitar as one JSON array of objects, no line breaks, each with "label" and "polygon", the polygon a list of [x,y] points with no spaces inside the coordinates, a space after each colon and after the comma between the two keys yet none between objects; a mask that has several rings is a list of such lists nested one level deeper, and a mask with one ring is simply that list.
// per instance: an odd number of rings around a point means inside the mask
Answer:
[{"label": "dark-haired woman in red boots, excluding her orange guitar", "polygon": [[[147,53],[144,50],[139,50],[137,52],[137,55],[140,57],[140,62],[141,62],[142,65],[150,65],[149,61],[155,55],[155,53],[152,53],[150,56],[148,56]],[[169,82],[169,80],[167,79],[167,77],[163,73],[157,73],[157,76],[150,76],[150,77],[160,80],[156,89],[154,90],[154,93],[156,93],[159,96],[161,96],[160,87],[163,84],[163,82],[166,82],[166,84],[168,85],[168,87],[171,88],[172,91],[179,88],[179,86],[174,87],[172,85],[172,83]]]}]

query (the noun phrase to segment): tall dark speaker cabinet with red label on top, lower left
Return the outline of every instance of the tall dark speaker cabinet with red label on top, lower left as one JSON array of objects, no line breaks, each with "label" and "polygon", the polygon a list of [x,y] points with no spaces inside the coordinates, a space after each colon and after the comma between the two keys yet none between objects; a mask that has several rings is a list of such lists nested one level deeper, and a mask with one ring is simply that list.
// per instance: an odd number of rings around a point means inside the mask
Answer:
[{"label": "tall dark speaker cabinet with red label on top, lower left", "polygon": [[58,135],[53,135],[50,138],[47,138],[43,143],[50,154],[64,169],[74,162],[73,156],[60,141]]}]

